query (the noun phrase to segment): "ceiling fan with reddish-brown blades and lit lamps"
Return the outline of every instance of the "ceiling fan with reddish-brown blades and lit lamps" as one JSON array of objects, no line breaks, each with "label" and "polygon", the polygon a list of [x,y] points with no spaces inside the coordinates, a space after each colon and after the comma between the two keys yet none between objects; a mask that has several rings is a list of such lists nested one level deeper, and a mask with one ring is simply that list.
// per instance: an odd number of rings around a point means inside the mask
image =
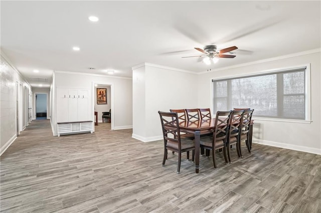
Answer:
[{"label": "ceiling fan with reddish-brown blades and lit lamps", "polygon": [[217,48],[216,45],[206,45],[206,46],[204,46],[204,49],[195,47],[196,50],[198,50],[202,53],[205,53],[205,55],[185,56],[185,57],[206,57],[203,59],[203,61],[206,64],[210,64],[211,60],[213,60],[214,63],[216,63],[218,61],[219,57],[233,58],[236,56],[236,55],[222,54],[222,53],[233,51],[233,50],[237,49],[237,46],[230,46],[230,47],[218,50],[218,51],[216,51],[216,48]]}]

